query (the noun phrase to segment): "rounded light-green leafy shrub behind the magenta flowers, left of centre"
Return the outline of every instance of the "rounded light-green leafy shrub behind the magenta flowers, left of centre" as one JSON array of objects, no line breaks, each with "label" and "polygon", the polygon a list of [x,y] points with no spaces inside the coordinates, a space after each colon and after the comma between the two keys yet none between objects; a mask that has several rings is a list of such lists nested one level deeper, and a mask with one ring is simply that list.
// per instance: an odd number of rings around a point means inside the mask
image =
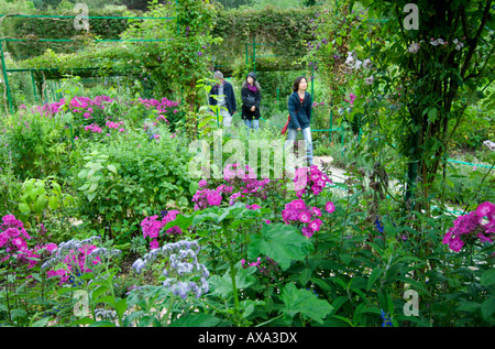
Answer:
[{"label": "rounded light-green leafy shrub behind the magenta flowers, left of centre", "polygon": [[130,241],[143,215],[189,205],[188,157],[178,152],[184,145],[164,128],[157,133],[160,140],[130,132],[81,150],[73,185],[79,190],[78,215],[89,228],[103,223],[110,237]]}]

